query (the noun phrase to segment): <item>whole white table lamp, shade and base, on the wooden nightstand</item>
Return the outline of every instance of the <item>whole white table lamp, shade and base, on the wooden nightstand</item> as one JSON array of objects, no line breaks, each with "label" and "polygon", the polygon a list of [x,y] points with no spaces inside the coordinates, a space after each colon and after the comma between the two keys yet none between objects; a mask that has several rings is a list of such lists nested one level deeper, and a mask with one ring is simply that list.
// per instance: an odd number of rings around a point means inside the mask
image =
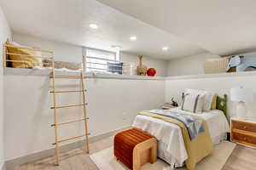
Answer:
[{"label": "whole white table lamp, shade and base, on the wooden nightstand", "polygon": [[230,94],[232,101],[239,102],[236,105],[236,116],[238,118],[246,118],[247,106],[245,105],[245,102],[253,101],[252,90],[247,88],[231,88]]}]

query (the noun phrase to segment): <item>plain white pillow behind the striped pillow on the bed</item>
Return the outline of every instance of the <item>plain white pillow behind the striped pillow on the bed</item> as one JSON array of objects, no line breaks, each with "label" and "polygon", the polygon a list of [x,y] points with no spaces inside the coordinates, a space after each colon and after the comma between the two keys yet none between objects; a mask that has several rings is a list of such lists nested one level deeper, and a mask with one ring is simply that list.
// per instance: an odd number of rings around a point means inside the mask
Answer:
[{"label": "plain white pillow behind the striped pillow on the bed", "polygon": [[212,99],[213,99],[213,95],[214,95],[213,92],[186,88],[185,89],[185,94],[195,94],[195,95],[196,94],[201,94],[201,95],[204,95],[205,96],[205,102],[204,102],[202,111],[211,111]]}]

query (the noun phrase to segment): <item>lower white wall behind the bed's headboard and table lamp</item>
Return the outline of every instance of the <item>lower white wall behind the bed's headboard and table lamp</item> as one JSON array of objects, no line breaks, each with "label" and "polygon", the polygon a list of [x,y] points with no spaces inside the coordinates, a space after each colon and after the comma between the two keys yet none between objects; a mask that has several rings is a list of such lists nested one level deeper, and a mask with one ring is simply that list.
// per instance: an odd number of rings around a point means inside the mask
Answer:
[{"label": "lower white wall behind the bed's headboard and table lamp", "polygon": [[[236,74],[236,73],[226,73]],[[245,73],[246,74],[246,73]],[[256,73],[250,73],[251,76],[237,77],[195,77],[166,80],[166,102],[171,102],[174,97],[179,103],[184,88],[204,89],[216,92],[219,95],[228,94],[228,115],[236,114],[236,103],[230,101],[230,88],[251,88],[253,89],[253,102],[248,103],[248,116],[256,117]],[[171,77],[170,77],[171,78]]]}]

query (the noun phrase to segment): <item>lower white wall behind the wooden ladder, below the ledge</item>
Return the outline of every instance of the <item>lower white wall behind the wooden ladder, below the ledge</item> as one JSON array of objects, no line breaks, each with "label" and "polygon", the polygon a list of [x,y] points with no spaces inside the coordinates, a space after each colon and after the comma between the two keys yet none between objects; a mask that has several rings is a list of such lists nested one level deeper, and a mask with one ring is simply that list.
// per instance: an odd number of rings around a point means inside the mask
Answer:
[{"label": "lower white wall behind the wooden ladder, below the ledge", "polygon": [[[78,88],[76,84],[75,80],[57,81],[59,89]],[[165,102],[164,79],[89,78],[86,86],[91,136],[131,126],[138,111],[152,109]],[[4,87],[6,159],[52,148],[54,129],[50,124],[54,116],[49,109],[52,99],[49,78],[7,74]],[[79,94],[57,96],[61,105],[80,103],[79,97]],[[81,108],[58,110],[61,122],[69,120],[68,116],[79,118],[79,113]],[[68,128],[63,126],[60,134],[76,136],[83,132],[83,127],[79,123],[73,123]]]}]

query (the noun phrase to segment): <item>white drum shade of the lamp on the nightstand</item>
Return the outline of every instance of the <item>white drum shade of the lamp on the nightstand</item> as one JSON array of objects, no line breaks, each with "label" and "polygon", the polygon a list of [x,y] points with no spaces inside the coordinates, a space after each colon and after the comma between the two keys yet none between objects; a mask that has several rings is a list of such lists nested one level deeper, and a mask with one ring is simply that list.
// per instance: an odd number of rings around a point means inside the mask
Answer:
[{"label": "white drum shade of the lamp on the nightstand", "polygon": [[253,90],[247,88],[231,88],[230,96],[232,101],[253,101]]}]

